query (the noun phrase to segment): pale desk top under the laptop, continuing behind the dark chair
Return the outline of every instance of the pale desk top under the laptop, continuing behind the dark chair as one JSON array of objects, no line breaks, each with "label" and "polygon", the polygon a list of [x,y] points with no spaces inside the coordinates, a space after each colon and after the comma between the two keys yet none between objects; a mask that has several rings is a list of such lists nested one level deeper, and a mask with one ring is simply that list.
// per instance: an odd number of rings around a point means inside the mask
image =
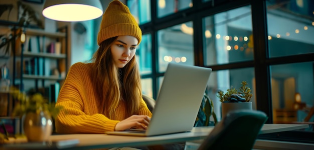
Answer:
[{"label": "pale desk top under the laptop, continuing behind the dark chair", "polygon": [[[264,124],[260,134],[280,132],[308,127],[308,124]],[[73,149],[94,149],[125,146],[146,146],[204,139],[214,126],[194,127],[191,132],[174,133],[150,137],[107,135],[107,134],[60,134],[51,135],[51,140],[78,139]],[[1,147],[0,147],[1,148]]]}]

